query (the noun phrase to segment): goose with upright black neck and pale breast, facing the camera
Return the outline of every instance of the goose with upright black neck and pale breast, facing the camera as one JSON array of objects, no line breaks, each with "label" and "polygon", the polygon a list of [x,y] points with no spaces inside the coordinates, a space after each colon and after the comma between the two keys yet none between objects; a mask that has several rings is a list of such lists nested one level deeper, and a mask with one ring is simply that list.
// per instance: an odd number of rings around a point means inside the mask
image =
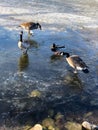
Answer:
[{"label": "goose with upright black neck and pale breast, facing the camera", "polygon": [[18,42],[18,47],[23,51],[23,53],[27,53],[27,50],[30,47],[30,44],[23,42],[23,31],[20,32],[20,39]]}]

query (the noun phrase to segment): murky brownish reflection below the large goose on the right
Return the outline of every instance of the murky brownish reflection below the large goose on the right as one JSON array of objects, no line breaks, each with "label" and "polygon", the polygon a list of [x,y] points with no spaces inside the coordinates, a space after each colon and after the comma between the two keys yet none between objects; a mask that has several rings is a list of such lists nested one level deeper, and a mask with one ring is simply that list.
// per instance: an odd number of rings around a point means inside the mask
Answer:
[{"label": "murky brownish reflection below the large goose on the right", "polygon": [[82,88],[82,82],[78,76],[78,74],[68,72],[66,77],[64,78],[66,84],[72,87]]}]

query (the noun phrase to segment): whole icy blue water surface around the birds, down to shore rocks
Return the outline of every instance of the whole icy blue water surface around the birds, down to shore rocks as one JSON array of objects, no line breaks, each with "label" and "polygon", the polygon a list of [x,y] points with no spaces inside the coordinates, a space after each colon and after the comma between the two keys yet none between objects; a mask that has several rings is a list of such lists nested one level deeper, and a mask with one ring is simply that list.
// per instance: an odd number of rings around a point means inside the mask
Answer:
[{"label": "whole icy blue water surface around the birds, down to shore rocks", "polygon": [[[66,113],[71,119],[77,111],[81,121],[97,121],[97,5],[97,0],[0,0],[1,126],[8,129],[29,121],[41,122],[50,109]],[[18,25],[24,21],[42,25],[42,31],[34,30],[28,55],[17,47]],[[24,39],[28,39],[25,31]],[[65,45],[63,51],[80,55],[90,73],[74,74],[65,57],[53,55],[52,43]],[[40,98],[30,96],[34,90],[41,93]],[[83,116],[89,111],[91,116]]]}]

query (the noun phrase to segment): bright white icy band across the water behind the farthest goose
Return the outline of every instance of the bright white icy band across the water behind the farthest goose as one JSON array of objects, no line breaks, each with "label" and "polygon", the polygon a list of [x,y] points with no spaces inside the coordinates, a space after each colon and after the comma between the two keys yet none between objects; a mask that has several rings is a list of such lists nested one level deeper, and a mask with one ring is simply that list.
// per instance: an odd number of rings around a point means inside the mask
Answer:
[{"label": "bright white icy band across the water behind the farthest goose", "polygon": [[[98,28],[98,20],[69,13],[38,13],[29,8],[15,8],[0,5],[0,25],[8,30],[18,30],[17,26],[26,21],[40,22],[43,29],[61,31],[65,27]],[[56,26],[57,25],[57,26]],[[58,26],[60,26],[58,30]]]}]

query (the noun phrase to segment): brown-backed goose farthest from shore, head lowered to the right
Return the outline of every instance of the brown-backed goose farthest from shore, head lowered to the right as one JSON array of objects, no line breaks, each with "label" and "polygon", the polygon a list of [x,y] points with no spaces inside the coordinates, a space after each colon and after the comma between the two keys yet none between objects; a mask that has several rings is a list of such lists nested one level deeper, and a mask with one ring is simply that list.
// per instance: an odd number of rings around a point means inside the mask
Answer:
[{"label": "brown-backed goose farthest from shore, head lowered to the right", "polygon": [[32,35],[30,33],[30,30],[34,30],[34,29],[42,29],[41,28],[41,25],[39,23],[34,23],[34,22],[25,22],[25,23],[22,23],[19,25],[19,27],[25,29],[25,30],[28,30],[28,35]]}]

